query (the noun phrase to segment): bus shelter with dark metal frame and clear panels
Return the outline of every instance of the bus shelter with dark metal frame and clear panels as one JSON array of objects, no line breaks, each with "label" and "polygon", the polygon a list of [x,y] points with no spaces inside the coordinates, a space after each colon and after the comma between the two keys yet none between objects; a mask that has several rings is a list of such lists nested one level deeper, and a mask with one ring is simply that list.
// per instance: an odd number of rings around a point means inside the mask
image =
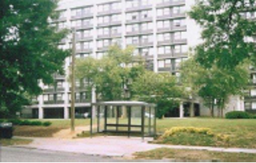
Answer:
[{"label": "bus shelter with dark metal frame and clear panels", "polygon": [[[95,108],[95,112],[93,109]],[[154,137],[156,105],[137,101],[92,103],[90,134],[114,133]]]}]

